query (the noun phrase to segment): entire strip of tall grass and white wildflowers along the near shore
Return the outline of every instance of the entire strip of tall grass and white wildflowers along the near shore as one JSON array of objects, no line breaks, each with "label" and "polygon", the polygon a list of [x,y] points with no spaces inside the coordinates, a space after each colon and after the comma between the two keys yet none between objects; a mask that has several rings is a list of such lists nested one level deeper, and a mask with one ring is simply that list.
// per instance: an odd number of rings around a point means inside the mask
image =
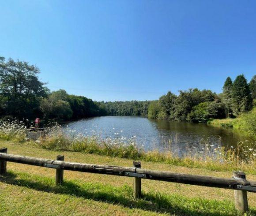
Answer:
[{"label": "entire strip of tall grass and white wildflowers along the near shore", "polygon": [[[145,152],[136,146],[134,138],[124,142],[123,138],[106,138],[100,136],[67,135],[59,125],[47,128],[48,134],[39,142],[26,139],[25,128],[19,123],[4,123],[0,127],[0,140],[26,143],[27,145],[60,151],[90,153],[132,160],[161,162],[188,168],[204,168],[211,171],[241,170],[256,174],[256,148],[239,143],[237,148],[223,149],[203,141],[205,147],[201,154],[189,153],[178,157],[168,149],[165,153],[158,151]],[[254,144],[255,145],[255,144]],[[210,150],[214,150],[212,154]]]}]

